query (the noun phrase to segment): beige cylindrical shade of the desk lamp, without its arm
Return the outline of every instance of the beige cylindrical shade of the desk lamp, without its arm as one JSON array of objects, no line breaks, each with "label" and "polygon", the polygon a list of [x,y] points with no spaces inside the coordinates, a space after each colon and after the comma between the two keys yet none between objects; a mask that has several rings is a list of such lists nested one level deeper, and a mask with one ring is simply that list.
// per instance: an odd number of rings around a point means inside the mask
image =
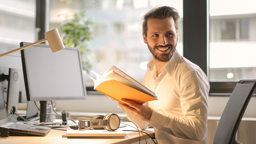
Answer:
[{"label": "beige cylindrical shade of the desk lamp, without its arm", "polygon": [[65,48],[57,28],[44,33],[44,35],[53,53]]}]

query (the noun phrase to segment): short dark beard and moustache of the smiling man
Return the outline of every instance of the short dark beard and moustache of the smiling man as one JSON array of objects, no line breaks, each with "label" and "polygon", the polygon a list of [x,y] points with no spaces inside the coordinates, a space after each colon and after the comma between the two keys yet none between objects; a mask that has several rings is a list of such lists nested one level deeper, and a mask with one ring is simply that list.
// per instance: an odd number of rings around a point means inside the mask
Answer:
[{"label": "short dark beard and moustache of the smiling man", "polygon": [[[154,46],[154,48],[150,47],[149,44],[147,44],[147,45],[148,45],[150,52],[153,54],[153,56],[155,57],[156,60],[159,60],[160,62],[168,62],[171,59],[172,54],[176,50],[177,42],[175,43],[174,47],[172,46],[172,44],[167,44],[166,46]],[[169,53],[157,54],[156,49],[162,48],[162,47],[170,47],[171,50]]]}]

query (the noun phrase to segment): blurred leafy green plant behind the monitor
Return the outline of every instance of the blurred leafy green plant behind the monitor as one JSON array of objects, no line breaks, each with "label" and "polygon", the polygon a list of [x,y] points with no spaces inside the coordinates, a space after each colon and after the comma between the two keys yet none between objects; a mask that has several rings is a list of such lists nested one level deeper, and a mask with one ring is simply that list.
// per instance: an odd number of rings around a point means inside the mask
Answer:
[{"label": "blurred leafy green plant behind the monitor", "polygon": [[65,15],[59,30],[65,46],[80,48],[83,69],[87,73],[94,60],[89,47],[93,25],[94,23],[86,17],[85,11],[77,11],[71,18]]}]

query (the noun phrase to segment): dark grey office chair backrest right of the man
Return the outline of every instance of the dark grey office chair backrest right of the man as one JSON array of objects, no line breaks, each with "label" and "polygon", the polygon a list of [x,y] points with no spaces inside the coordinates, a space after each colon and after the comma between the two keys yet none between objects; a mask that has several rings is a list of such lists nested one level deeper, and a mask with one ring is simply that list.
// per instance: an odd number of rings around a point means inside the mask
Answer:
[{"label": "dark grey office chair backrest right of the man", "polygon": [[241,119],[256,88],[256,80],[240,80],[220,117],[214,144],[241,144],[235,139]]}]

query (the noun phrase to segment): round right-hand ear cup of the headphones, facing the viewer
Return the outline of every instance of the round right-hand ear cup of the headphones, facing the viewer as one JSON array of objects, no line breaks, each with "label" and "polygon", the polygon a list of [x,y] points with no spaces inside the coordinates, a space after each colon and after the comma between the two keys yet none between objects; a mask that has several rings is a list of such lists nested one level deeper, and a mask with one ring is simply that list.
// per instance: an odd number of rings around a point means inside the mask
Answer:
[{"label": "round right-hand ear cup of the headphones, facing the viewer", "polygon": [[107,114],[103,119],[107,119],[107,126],[103,126],[108,131],[115,131],[120,126],[120,118],[115,113]]}]

